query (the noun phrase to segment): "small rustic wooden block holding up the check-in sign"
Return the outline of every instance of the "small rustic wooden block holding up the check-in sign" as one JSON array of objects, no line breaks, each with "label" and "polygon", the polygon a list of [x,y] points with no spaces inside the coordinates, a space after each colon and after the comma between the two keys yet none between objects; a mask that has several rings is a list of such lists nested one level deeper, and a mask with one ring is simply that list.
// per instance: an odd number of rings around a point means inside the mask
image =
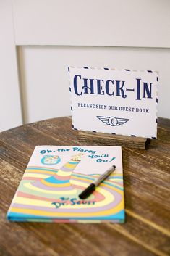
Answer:
[{"label": "small rustic wooden block holding up the check-in sign", "polygon": [[122,146],[133,149],[147,149],[150,139],[136,136],[122,136],[109,133],[77,131],[77,141],[99,146]]}]

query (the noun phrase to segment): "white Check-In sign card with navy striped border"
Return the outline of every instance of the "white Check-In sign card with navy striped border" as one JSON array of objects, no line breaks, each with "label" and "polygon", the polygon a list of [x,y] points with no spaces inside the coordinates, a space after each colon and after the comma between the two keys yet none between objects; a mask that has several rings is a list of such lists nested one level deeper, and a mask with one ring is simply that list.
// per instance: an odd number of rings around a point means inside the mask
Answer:
[{"label": "white Check-In sign card with navy striped border", "polygon": [[69,67],[72,127],[156,139],[158,73]]}]

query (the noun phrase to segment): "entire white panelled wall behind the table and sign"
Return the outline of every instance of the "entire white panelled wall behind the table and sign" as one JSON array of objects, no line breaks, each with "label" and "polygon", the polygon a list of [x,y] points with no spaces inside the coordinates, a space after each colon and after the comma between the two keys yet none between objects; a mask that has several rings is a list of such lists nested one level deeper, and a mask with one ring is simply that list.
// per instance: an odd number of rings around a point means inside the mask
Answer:
[{"label": "entire white panelled wall behind the table and sign", "polygon": [[169,17],[169,0],[1,0],[0,131],[69,115],[70,64],[160,71],[170,117]]}]

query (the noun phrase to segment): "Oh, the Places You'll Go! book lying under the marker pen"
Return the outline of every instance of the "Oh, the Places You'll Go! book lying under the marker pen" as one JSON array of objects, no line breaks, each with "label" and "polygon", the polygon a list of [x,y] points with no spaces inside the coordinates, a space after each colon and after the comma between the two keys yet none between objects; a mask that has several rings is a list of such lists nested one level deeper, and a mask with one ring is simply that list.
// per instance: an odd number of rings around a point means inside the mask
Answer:
[{"label": "Oh, the Places You'll Go! book lying under the marker pen", "polygon": [[[112,165],[86,199],[79,194]],[[121,146],[35,146],[7,220],[124,223]]]}]

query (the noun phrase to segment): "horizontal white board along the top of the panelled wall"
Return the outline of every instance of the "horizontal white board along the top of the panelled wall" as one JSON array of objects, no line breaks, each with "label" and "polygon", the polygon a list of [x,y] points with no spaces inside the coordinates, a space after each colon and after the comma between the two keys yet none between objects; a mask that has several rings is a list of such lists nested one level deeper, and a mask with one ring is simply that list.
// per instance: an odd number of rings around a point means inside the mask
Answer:
[{"label": "horizontal white board along the top of the panelled wall", "polygon": [[169,0],[13,0],[17,45],[170,47]]}]

